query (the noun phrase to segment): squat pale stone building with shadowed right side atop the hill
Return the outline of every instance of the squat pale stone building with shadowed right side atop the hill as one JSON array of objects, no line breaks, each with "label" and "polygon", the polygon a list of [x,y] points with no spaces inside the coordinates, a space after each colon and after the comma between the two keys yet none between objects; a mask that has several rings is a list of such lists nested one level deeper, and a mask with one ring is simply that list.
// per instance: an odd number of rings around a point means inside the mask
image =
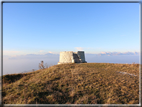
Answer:
[{"label": "squat pale stone building with shadowed right side atop the hill", "polygon": [[84,51],[64,51],[60,52],[60,59],[58,64],[64,63],[86,63]]}]

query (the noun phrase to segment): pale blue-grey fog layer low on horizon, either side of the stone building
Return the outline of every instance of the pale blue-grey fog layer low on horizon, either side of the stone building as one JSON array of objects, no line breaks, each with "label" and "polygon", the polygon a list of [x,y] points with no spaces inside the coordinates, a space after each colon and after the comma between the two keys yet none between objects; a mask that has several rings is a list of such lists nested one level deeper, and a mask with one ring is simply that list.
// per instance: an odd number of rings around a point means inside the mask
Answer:
[{"label": "pale blue-grey fog layer low on horizon, either side of the stone building", "polygon": [[[88,63],[139,63],[139,55],[96,55],[85,54]],[[4,56],[3,57],[3,75],[28,72],[39,69],[39,63],[44,61],[44,65],[52,66],[59,62],[59,54],[45,55],[21,55],[21,56]]]}]

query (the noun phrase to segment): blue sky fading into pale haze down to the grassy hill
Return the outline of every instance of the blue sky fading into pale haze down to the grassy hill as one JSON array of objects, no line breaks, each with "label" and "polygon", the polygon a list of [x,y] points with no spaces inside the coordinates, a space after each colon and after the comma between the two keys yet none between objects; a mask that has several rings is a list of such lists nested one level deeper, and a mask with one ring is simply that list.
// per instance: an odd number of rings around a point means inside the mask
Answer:
[{"label": "blue sky fading into pale haze down to the grassy hill", "polygon": [[139,63],[139,7],[139,3],[3,3],[3,74],[37,68],[41,60],[57,64],[61,51],[83,50],[89,62]]}]

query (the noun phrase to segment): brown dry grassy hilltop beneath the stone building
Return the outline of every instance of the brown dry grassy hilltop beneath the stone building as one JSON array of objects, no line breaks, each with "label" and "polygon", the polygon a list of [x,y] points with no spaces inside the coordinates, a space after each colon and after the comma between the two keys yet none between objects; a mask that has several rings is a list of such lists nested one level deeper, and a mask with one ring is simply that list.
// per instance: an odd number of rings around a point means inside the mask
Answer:
[{"label": "brown dry grassy hilltop beneath the stone building", "polygon": [[4,75],[2,97],[4,104],[138,104],[139,64],[64,64]]}]

